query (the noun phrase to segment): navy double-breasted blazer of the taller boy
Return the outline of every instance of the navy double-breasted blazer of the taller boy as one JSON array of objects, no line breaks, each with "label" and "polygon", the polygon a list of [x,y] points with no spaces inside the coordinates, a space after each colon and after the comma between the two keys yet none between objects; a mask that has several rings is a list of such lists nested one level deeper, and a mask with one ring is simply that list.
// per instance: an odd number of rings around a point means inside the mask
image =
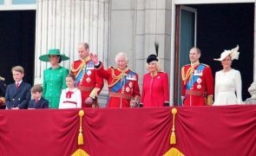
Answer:
[{"label": "navy double-breasted blazer of the taller boy", "polygon": [[21,82],[19,88],[16,88],[16,83],[11,83],[6,88],[5,105],[7,109],[18,107],[20,109],[28,108],[31,99],[31,86],[24,81]]}]

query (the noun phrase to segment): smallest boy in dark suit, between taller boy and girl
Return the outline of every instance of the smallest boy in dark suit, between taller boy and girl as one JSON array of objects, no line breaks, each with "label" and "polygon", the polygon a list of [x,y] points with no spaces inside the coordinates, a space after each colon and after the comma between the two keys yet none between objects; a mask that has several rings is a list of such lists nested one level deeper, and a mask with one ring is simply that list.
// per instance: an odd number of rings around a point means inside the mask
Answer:
[{"label": "smallest boy in dark suit, between taller boy and girl", "polygon": [[43,87],[39,84],[36,84],[35,86],[33,86],[33,88],[31,88],[33,100],[30,100],[29,108],[49,108],[49,101],[42,97],[42,93]]}]

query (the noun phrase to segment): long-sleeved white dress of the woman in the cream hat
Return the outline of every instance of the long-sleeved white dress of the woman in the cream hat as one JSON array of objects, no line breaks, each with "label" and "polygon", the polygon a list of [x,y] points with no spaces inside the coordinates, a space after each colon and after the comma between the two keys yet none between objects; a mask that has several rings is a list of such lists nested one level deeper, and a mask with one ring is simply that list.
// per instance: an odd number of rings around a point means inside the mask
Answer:
[{"label": "long-sleeved white dress of the woman in the cream hat", "polygon": [[228,72],[216,72],[213,106],[242,104],[241,90],[240,71],[232,68]]}]

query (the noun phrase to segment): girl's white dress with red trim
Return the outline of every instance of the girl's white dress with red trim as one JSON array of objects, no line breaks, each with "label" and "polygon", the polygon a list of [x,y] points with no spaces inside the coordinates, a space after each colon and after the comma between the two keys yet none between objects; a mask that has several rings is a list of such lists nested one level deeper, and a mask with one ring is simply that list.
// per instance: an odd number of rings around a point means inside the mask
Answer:
[{"label": "girl's white dress with red trim", "polygon": [[69,88],[65,88],[62,90],[59,108],[82,107],[81,91],[78,88],[74,88],[71,91],[73,92],[73,94],[71,94],[71,97],[67,97]]}]

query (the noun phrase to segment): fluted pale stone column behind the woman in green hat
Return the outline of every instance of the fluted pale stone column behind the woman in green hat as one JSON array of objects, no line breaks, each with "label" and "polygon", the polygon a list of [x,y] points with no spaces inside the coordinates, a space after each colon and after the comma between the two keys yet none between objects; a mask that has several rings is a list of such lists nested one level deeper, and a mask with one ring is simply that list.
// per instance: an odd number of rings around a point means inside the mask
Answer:
[{"label": "fluted pale stone column behind the woman in green hat", "polygon": [[38,57],[48,49],[61,49],[70,60],[79,59],[77,45],[89,42],[103,62],[108,62],[109,0],[38,0],[36,8],[35,83],[43,82],[43,69],[49,63]]}]

